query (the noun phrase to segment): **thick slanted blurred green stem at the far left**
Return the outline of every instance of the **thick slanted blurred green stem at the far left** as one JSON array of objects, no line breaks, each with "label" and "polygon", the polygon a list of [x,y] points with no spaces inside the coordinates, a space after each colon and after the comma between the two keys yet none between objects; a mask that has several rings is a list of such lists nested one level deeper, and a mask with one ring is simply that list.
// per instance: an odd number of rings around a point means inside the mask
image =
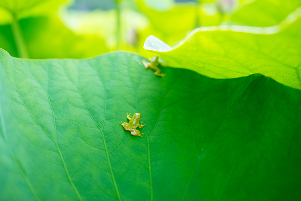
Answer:
[{"label": "thick slanted blurred green stem at the far left", "polygon": [[13,33],[18,56],[20,58],[29,58],[19,21],[17,20],[16,15],[14,14],[13,14],[13,22],[11,24],[11,31]]}]

